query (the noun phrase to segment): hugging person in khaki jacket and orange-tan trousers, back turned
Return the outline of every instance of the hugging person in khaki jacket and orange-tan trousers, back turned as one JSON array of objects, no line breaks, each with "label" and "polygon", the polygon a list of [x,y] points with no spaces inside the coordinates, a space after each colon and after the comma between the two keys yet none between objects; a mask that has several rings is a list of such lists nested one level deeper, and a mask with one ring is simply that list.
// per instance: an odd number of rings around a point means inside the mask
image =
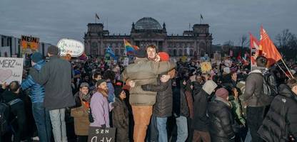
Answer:
[{"label": "hugging person in khaki jacket and orange-tan trousers, back turned", "polygon": [[142,142],[146,138],[146,129],[151,120],[156,92],[144,91],[143,84],[156,84],[156,77],[176,67],[174,62],[154,62],[146,58],[144,49],[136,50],[136,59],[122,72],[122,79],[136,82],[130,89],[129,102],[134,114],[134,141]]}]

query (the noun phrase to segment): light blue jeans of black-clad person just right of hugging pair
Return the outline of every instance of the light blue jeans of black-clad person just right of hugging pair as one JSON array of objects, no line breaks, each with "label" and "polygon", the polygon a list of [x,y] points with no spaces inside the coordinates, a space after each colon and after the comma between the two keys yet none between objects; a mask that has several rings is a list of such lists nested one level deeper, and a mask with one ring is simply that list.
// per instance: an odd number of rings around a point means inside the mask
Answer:
[{"label": "light blue jeans of black-clad person just right of hugging pair", "polygon": [[185,116],[176,118],[177,139],[176,142],[184,142],[188,138],[188,122]]}]

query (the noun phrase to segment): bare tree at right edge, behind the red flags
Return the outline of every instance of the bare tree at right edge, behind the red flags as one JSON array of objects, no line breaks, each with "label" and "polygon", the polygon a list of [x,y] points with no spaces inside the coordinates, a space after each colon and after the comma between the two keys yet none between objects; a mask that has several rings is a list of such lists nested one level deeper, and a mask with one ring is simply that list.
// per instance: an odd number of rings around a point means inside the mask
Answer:
[{"label": "bare tree at right edge, behind the red flags", "polygon": [[276,35],[276,41],[279,48],[297,48],[296,35],[291,33],[288,28]]}]

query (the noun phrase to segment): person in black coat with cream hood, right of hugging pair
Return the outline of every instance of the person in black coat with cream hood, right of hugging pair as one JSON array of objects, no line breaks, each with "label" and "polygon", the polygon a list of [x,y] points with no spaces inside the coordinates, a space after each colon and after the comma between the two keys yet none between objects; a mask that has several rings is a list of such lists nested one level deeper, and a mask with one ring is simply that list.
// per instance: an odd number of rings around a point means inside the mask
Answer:
[{"label": "person in black coat with cream hood, right of hugging pair", "polygon": [[203,84],[201,92],[194,96],[193,105],[193,141],[210,142],[211,136],[208,133],[208,118],[206,109],[208,106],[208,97],[214,92],[218,85],[212,80],[208,80]]}]

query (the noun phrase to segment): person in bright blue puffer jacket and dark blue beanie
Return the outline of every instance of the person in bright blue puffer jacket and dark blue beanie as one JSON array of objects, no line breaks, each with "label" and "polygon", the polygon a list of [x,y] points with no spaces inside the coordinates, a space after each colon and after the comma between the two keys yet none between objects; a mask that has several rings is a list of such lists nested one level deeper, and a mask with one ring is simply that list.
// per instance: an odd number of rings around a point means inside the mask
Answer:
[{"label": "person in bright blue puffer jacket and dark blue beanie", "polygon": [[[31,65],[34,70],[40,72],[41,68],[46,64],[41,53],[36,52],[31,55]],[[51,141],[51,121],[49,119],[49,110],[44,107],[45,90],[42,84],[36,82],[31,74],[26,80],[21,82],[21,89],[30,89],[30,99],[32,102],[32,113],[36,123],[39,140]]]}]

